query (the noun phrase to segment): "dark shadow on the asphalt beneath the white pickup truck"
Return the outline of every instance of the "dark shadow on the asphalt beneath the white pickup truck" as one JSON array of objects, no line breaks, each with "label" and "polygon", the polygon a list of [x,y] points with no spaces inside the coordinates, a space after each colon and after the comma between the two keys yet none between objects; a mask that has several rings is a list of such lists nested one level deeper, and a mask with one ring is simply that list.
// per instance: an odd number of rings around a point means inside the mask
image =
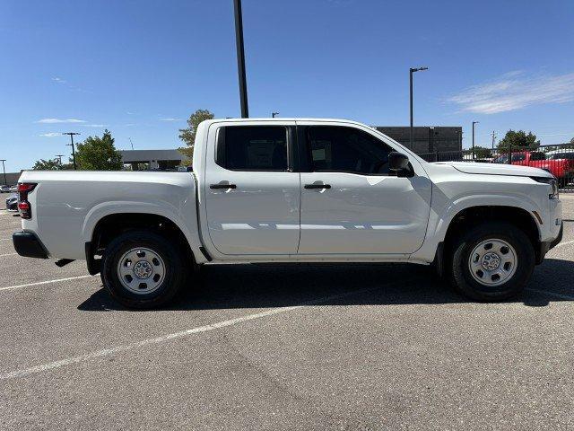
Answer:
[{"label": "dark shadow on the asphalt beneath the white pickup truck", "polygon": [[[431,268],[409,264],[265,264],[206,266],[169,306],[191,311],[292,305],[471,303]],[[540,307],[574,300],[574,262],[546,259],[523,294],[506,303]],[[484,304],[488,306],[488,304]],[[101,288],[79,310],[126,310]]]}]

